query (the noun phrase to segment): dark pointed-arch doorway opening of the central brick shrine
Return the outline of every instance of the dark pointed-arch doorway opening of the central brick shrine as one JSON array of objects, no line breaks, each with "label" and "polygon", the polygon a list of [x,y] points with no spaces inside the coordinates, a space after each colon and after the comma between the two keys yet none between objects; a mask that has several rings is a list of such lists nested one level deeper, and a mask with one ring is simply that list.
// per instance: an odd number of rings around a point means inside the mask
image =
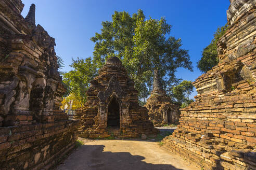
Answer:
[{"label": "dark pointed-arch doorway opening of the central brick shrine", "polygon": [[120,127],[120,108],[116,97],[113,97],[108,104],[107,126]]}]

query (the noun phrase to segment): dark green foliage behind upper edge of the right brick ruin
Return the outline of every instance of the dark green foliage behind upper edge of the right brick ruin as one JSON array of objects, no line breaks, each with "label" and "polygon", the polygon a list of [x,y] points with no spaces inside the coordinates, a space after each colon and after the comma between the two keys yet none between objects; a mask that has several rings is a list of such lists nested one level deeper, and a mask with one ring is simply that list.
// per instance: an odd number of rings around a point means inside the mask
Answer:
[{"label": "dark green foliage behind upper edge of the right brick ruin", "polygon": [[213,34],[214,38],[212,39],[209,46],[203,49],[202,58],[197,62],[197,67],[201,70],[202,73],[208,72],[212,67],[219,63],[217,57],[217,41],[225,34],[228,29],[228,25],[219,27],[217,31]]}]

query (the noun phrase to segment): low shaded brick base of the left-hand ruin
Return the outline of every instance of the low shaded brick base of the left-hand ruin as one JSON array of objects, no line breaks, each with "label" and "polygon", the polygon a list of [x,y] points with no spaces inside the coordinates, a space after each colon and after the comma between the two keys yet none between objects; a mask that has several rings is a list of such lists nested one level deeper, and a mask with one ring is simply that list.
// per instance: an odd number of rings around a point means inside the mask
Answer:
[{"label": "low shaded brick base of the left-hand ruin", "polygon": [[0,128],[0,169],[49,169],[75,147],[78,123],[54,123]]}]

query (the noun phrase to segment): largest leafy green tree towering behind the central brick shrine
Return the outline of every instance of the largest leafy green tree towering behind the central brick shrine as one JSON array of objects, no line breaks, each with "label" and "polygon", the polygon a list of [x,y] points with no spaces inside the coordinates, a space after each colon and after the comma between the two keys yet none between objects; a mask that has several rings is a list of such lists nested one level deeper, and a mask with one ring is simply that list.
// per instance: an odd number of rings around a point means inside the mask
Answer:
[{"label": "largest leafy green tree towering behind the central brick shrine", "polygon": [[178,67],[193,71],[188,51],[181,49],[181,39],[169,36],[171,25],[165,18],[145,20],[140,9],[132,16],[115,11],[112,21],[102,25],[101,33],[91,38],[97,67],[111,56],[120,58],[140,99],[150,94],[154,69],[159,70],[164,87],[176,80],[174,73]]}]

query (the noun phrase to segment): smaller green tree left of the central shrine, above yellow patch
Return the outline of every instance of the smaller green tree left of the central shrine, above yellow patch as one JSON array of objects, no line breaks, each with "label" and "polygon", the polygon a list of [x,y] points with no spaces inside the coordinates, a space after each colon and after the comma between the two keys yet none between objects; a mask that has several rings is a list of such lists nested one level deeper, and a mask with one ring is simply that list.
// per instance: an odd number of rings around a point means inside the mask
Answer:
[{"label": "smaller green tree left of the central shrine, above yellow patch", "polygon": [[86,90],[89,82],[97,75],[96,64],[92,58],[73,60],[70,67],[74,68],[68,73],[63,74],[63,82],[71,89],[71,93],[78,100],[80,107],[86,102]]}]

